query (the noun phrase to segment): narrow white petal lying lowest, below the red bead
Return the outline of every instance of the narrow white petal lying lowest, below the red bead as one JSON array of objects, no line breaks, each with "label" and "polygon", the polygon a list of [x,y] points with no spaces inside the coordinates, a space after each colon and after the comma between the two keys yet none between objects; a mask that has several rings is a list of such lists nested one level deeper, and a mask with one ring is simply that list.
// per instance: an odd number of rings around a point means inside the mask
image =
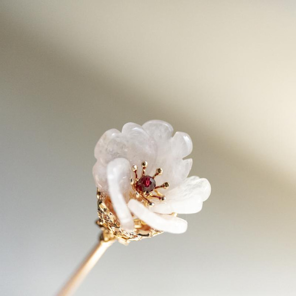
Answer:
[{"label": "narrow white petal lying lowest, below the red bead", "polygon": [[153,213],[136,200],[130,200],[127,205],[131,212],[152,228],[173,234],[181,234],[187,230],[187,221],[181,218]]}]

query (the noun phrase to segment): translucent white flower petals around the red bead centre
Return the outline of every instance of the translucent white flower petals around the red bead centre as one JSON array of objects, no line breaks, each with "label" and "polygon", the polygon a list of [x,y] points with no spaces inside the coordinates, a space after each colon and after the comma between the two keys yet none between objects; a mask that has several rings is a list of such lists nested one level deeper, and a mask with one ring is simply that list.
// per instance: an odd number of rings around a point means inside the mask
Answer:
[{"label": "translucent white flower petals around the red bead centre", "polygon": [[[159,231],[183,233],[187,229],[187,221],[172,213],[199,212],[211,193],[207,179],[187,178],[192,159],[183,158],[192,151],[190,137],[180,131],[172,135],[173,127],[165,121],[151,120],[143,126],[130,122],[122,127],[121,133],[117,129],[106,131],[95,146],[97,161],[93,176],[96,186],[110,196],[120,225],[127,232],[134,230],[134,218],[138,217]],[[150,178],[161,168],[162,174],[159,170],[160,174],[155,176],[156,185],[168,182],[169,188],[163,188],[168,185],[165,184],[155,188],[157,191],[138,190],[140,194],[137,193],[141,176],[135,180],[131,168],[134,165],[141,168],[143,162],[148,163],[144,163],[144,170],[147,165],[145,175]],[[133,176],[134,184],[131,184]],[[149,201],[153,206],[149,206]]]}]

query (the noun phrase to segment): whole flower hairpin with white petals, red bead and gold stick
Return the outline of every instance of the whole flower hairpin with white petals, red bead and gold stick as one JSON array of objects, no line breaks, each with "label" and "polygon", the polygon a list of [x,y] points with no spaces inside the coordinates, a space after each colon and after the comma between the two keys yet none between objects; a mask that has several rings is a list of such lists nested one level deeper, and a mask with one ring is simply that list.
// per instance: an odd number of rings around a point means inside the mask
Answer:
[{"label": "whole flower hairpin with white petals, red bead and gold stick", "polygon": [[95,146],[93,167],[103,235],[59,295],[69,295],[114,241],[186,231],[187,221],[177,215],[199,212],[211,193],[207,179],[188,177],[192,159],[185,157],[191,151],[190,137],[173,135],[173,127],[161,120],[105,132]]}]

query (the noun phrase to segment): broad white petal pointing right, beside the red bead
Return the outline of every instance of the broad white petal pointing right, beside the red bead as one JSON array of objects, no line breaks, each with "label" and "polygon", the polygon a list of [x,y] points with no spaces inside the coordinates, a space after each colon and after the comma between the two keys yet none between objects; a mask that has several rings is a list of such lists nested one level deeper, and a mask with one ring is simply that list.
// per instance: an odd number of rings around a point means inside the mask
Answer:
[{"label": "broad white petal pointing right, beside the red bead", "polygon": [[211,193],[211,185],[205,178],[192,176],[166,195],[166,201],[155,202],[153,212],[192,214],[199,212]]}]

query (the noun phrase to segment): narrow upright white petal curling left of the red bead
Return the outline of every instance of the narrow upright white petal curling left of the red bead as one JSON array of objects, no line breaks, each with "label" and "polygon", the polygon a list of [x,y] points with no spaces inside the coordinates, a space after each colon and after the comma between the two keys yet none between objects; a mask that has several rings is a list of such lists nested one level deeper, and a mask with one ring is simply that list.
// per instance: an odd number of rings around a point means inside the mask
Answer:
[{"label": "narrow upright white petal curling left of the red bead", "polygon": [[126,231],[134,230],[134,220],[126,205],[122,192],[125,192],[129,185],[130,164],[125,158],[116,158],[107,166],[107,179],[110,198],[116,212],[120,225]]}]

